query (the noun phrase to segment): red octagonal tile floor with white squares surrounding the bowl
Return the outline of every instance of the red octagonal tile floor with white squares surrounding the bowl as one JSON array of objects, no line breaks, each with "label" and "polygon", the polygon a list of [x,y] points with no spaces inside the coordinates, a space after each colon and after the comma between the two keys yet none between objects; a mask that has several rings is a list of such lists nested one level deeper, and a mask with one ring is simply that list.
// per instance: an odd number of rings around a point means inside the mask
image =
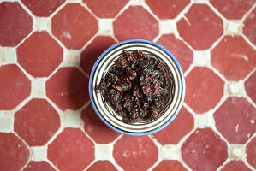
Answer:
[{"label": "red octagonal tile floor with white squares surrounding the bowl", "polygon": [[[131,137],[90,104],[93,63],[145,38],[182,65],[187,92],[164,130]],[[3,0],[0,171],[256,169],[255,0]]]}]

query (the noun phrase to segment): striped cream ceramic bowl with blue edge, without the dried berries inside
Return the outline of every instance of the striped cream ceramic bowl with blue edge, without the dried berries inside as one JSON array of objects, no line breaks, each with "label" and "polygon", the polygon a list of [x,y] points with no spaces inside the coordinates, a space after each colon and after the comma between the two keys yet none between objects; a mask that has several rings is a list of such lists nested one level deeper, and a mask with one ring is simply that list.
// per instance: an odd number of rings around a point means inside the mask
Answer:
[{"label": "striped cream ceramic bowl with blue edge, without the dried berries inside", "polygon": [[[168,74],[172,77],[173,87],[167,98],[164,109],[158,113],[157,120],[125,123],[122,121],[122,116],[117,115],[110,105],[104,101],[102,93],[96,93],[95,88],[100,83],[101,78],[104,77],[104,74],[108,72],[109,68],[116,62],[119,56],[121,56],[122,50],[141,50],[147,56],[158,58],[160,62],[164,63]],[[184,74],[175,56],[163,46],[144,39],[125,40],[105,50],[104,53],[98,57],[97,62],[95,62],[89,80],[91,103],[98,117],[116,132],[134,136],[156,133],[170,124],[182,108],[185,89]]]}]

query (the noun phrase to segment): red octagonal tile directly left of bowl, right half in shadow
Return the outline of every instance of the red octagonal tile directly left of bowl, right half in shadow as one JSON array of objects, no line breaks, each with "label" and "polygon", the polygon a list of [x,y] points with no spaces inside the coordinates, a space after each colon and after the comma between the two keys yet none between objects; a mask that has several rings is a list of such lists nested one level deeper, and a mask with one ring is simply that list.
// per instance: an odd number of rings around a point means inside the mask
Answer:
[{"label": "red octagonal tile directly left of bowl, right half in shadow", "polygon": [[80,109],[89,100],[88,79],[77,68],[60,68],[46,81],[47,97],[62,109]]}]

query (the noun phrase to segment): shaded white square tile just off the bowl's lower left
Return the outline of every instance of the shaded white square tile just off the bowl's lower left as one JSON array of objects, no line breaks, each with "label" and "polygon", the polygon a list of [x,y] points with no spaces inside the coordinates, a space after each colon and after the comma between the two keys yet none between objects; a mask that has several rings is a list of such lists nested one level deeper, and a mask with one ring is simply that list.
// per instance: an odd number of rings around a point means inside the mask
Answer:
[{"label": "shaded white square tile just off the bowl's lower left", "polygon": [[80,112],[67,109],[65,116],[66,127],[80,127]]}]

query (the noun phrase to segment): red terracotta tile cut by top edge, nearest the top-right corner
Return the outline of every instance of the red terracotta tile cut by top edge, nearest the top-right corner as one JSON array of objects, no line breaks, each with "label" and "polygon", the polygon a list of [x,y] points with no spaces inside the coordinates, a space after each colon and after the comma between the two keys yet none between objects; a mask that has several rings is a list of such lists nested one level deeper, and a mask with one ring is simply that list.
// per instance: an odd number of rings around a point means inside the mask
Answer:
[{"label": "red terracotta tile cut by top edge, nearest the top-right corner", "polygon": [[253,7],[255,0],[210,0],[210,3],[227,19],[239,20]]}]

